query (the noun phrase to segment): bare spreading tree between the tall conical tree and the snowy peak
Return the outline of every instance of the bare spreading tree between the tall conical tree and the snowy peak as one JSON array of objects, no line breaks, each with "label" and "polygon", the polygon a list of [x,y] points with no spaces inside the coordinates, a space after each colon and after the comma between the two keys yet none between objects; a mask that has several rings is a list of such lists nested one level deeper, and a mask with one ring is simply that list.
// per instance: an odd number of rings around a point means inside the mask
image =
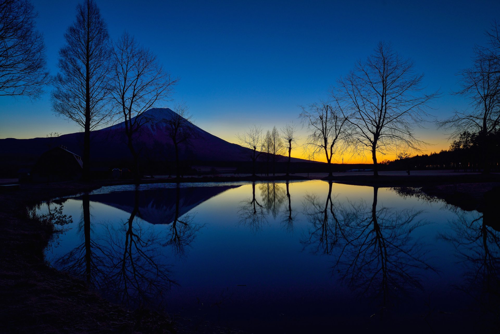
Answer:
[{"label": "bare spreading tree between the tall conical tree and the snowy peak", "polygon": [[170,97],[177,79],[172,79],[156,55],[124,32],[114,43],[111,98],[124,120],[127,146],[133,156],[135,181],[140,178],[139,151],[135,136],[142,125],[155,121],[145,112]]}]

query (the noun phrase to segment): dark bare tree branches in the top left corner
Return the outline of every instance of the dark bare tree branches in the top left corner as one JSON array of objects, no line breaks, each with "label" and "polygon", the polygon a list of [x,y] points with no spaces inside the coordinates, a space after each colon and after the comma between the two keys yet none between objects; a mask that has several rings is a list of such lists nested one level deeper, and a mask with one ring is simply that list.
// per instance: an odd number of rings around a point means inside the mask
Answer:
[{"label": "dark bare tree branches in the top left corner", "polygon": [[36,98],[49,81],[36,15],[29,0],[0,0],[0,96]]}]

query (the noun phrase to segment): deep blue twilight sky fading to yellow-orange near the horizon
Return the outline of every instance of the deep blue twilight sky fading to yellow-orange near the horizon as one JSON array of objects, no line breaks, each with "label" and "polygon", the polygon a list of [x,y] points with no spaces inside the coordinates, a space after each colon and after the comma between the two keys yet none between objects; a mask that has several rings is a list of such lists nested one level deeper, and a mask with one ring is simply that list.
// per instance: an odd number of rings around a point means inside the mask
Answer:
[{"label": "deep blue twilight sky fading to yellow-orange near the horizon", "polygon": [[[77,0],[31,0],[38,11],[47,65],[57,73],[63,34],[73,22]],[[456,73],[470,66],[474,44],[500,19],[500,1],[165,1],[97,0],[112,39],[133,34],[179,77],[172,100],[189,106],[196,125],[230,142],[252,124],[264,130],[299,123],[299,105],[328,98],[328,88],[380,40],[415,62],[428,92],[441,97],[429,112],[441,119],[467,101]],[[496,15],[496,16],[495,16]],[[49,92],[37,100],[0,96],[0,138],[44,137],[79,131],[51,111]],[[449,146],[434,123],[416,135]],[[307,135],[300,131],[303,142]],[[297,148],[292,156],[301,157]],[[337,161],[358,162],[350,155]],[[393,158],[386,154],[379,159]],[[316,158],[321,160],[321,158]],[[324,160],[324,159],[323,159]],[[368,161],[369,162],[369,161]]]}]

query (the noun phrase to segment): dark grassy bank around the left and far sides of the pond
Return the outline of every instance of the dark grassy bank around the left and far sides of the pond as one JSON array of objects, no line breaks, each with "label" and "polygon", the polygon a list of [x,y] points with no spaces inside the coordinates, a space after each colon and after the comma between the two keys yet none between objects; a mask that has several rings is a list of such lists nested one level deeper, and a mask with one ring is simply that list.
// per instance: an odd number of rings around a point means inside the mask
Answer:
[{"label": "dark grassy bank around the left and far sides of the pond", "polygon": [[[220,178],[220,179],[219,179]],[[296,177],[300,179],[302,177]],[[184,178],[182,181],[229,181],[237,178]],[[268,178],[259,178],[266,180]],[[484,194],[500,185],[500,175],[381,176],[340,175],[335,181],[371,186],[421,186],[431,196],[465,209],[481,209]],[[148,182],[156,180],[148,180]],[[161,180],[157,180],[161,181]],[[164,181],[164,180],[163,180]],[[170,180],[171,181],[171,180]],[[126,181],[125,181],[126,182]],[[46,265],[43,248],[51,226],[29,218],[27,207],[42,200],[123,181],[91,184],[57,182],[21,184],[0,192],[0,332],[1,333],[231,333],[209,323],[148,309],[127,310],[111,304],[83,281]],[[489,191],[489,192],[487,192]],[[492,198],[489,195],[488,198]],[[494,197],[493,197],[494,198]]]}]

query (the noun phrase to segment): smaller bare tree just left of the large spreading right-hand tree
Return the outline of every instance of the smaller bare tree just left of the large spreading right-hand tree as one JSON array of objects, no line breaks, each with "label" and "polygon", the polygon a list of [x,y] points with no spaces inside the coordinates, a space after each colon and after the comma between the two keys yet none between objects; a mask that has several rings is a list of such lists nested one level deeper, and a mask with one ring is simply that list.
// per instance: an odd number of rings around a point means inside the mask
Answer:
[{"label": "smaller bare tree just left of the large spreading right-hand tree", "polygon": [[331,157],[338,144],[345,142],[347,118],[327,102],[309,104],[308,110],[303,106],[301,108],[298,116],[310,132],[305,147],[311,149],[313,155],[324,152],[328,176],[331,177]]}]

